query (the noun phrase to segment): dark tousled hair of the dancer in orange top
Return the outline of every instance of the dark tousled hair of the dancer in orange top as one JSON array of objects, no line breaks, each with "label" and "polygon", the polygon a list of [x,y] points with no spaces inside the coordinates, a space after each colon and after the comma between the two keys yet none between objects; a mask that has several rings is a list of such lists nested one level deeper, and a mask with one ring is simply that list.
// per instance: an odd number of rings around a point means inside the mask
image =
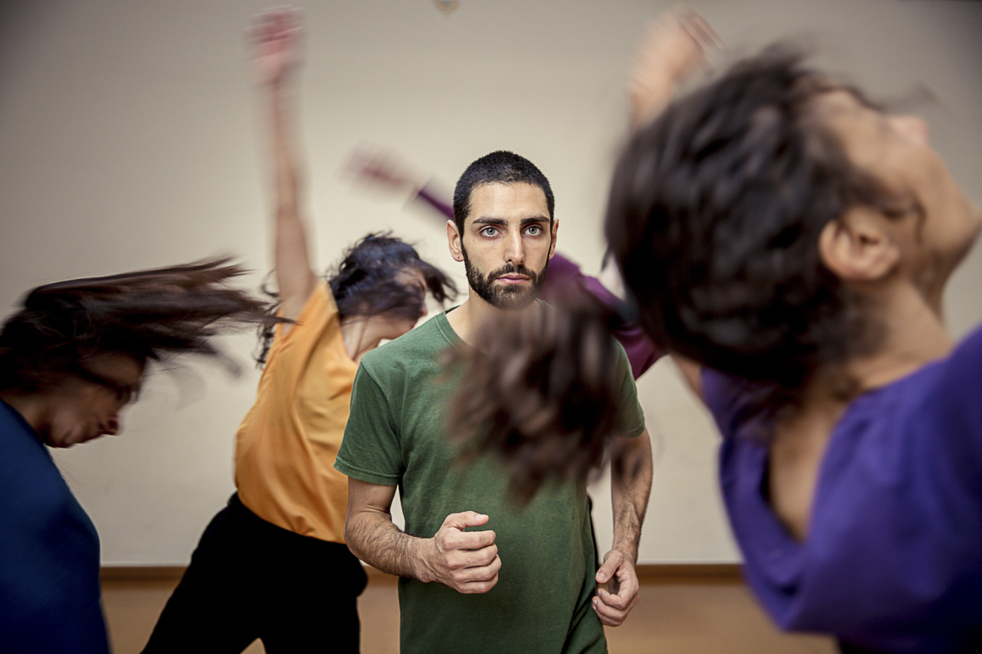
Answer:
[{"label": "dark tousled hair of the dancer in orange top", "polygon": [[[341,319],[389,314],[417,318],[425,307],[426,293],[402,273],[418,271],[426,291],[439,302],[457,297],[454,281],[431,263],[419,258],[415,248],[392,237],[389,233],[369,234],[352,245],[342,255],[341,263],[330,272],[327,283],[338,305]],[[277,294],[263,286],[271,298]],[[260,330],[259,352],[256,360],[266,361],[273,342],[273,326]]]}]

